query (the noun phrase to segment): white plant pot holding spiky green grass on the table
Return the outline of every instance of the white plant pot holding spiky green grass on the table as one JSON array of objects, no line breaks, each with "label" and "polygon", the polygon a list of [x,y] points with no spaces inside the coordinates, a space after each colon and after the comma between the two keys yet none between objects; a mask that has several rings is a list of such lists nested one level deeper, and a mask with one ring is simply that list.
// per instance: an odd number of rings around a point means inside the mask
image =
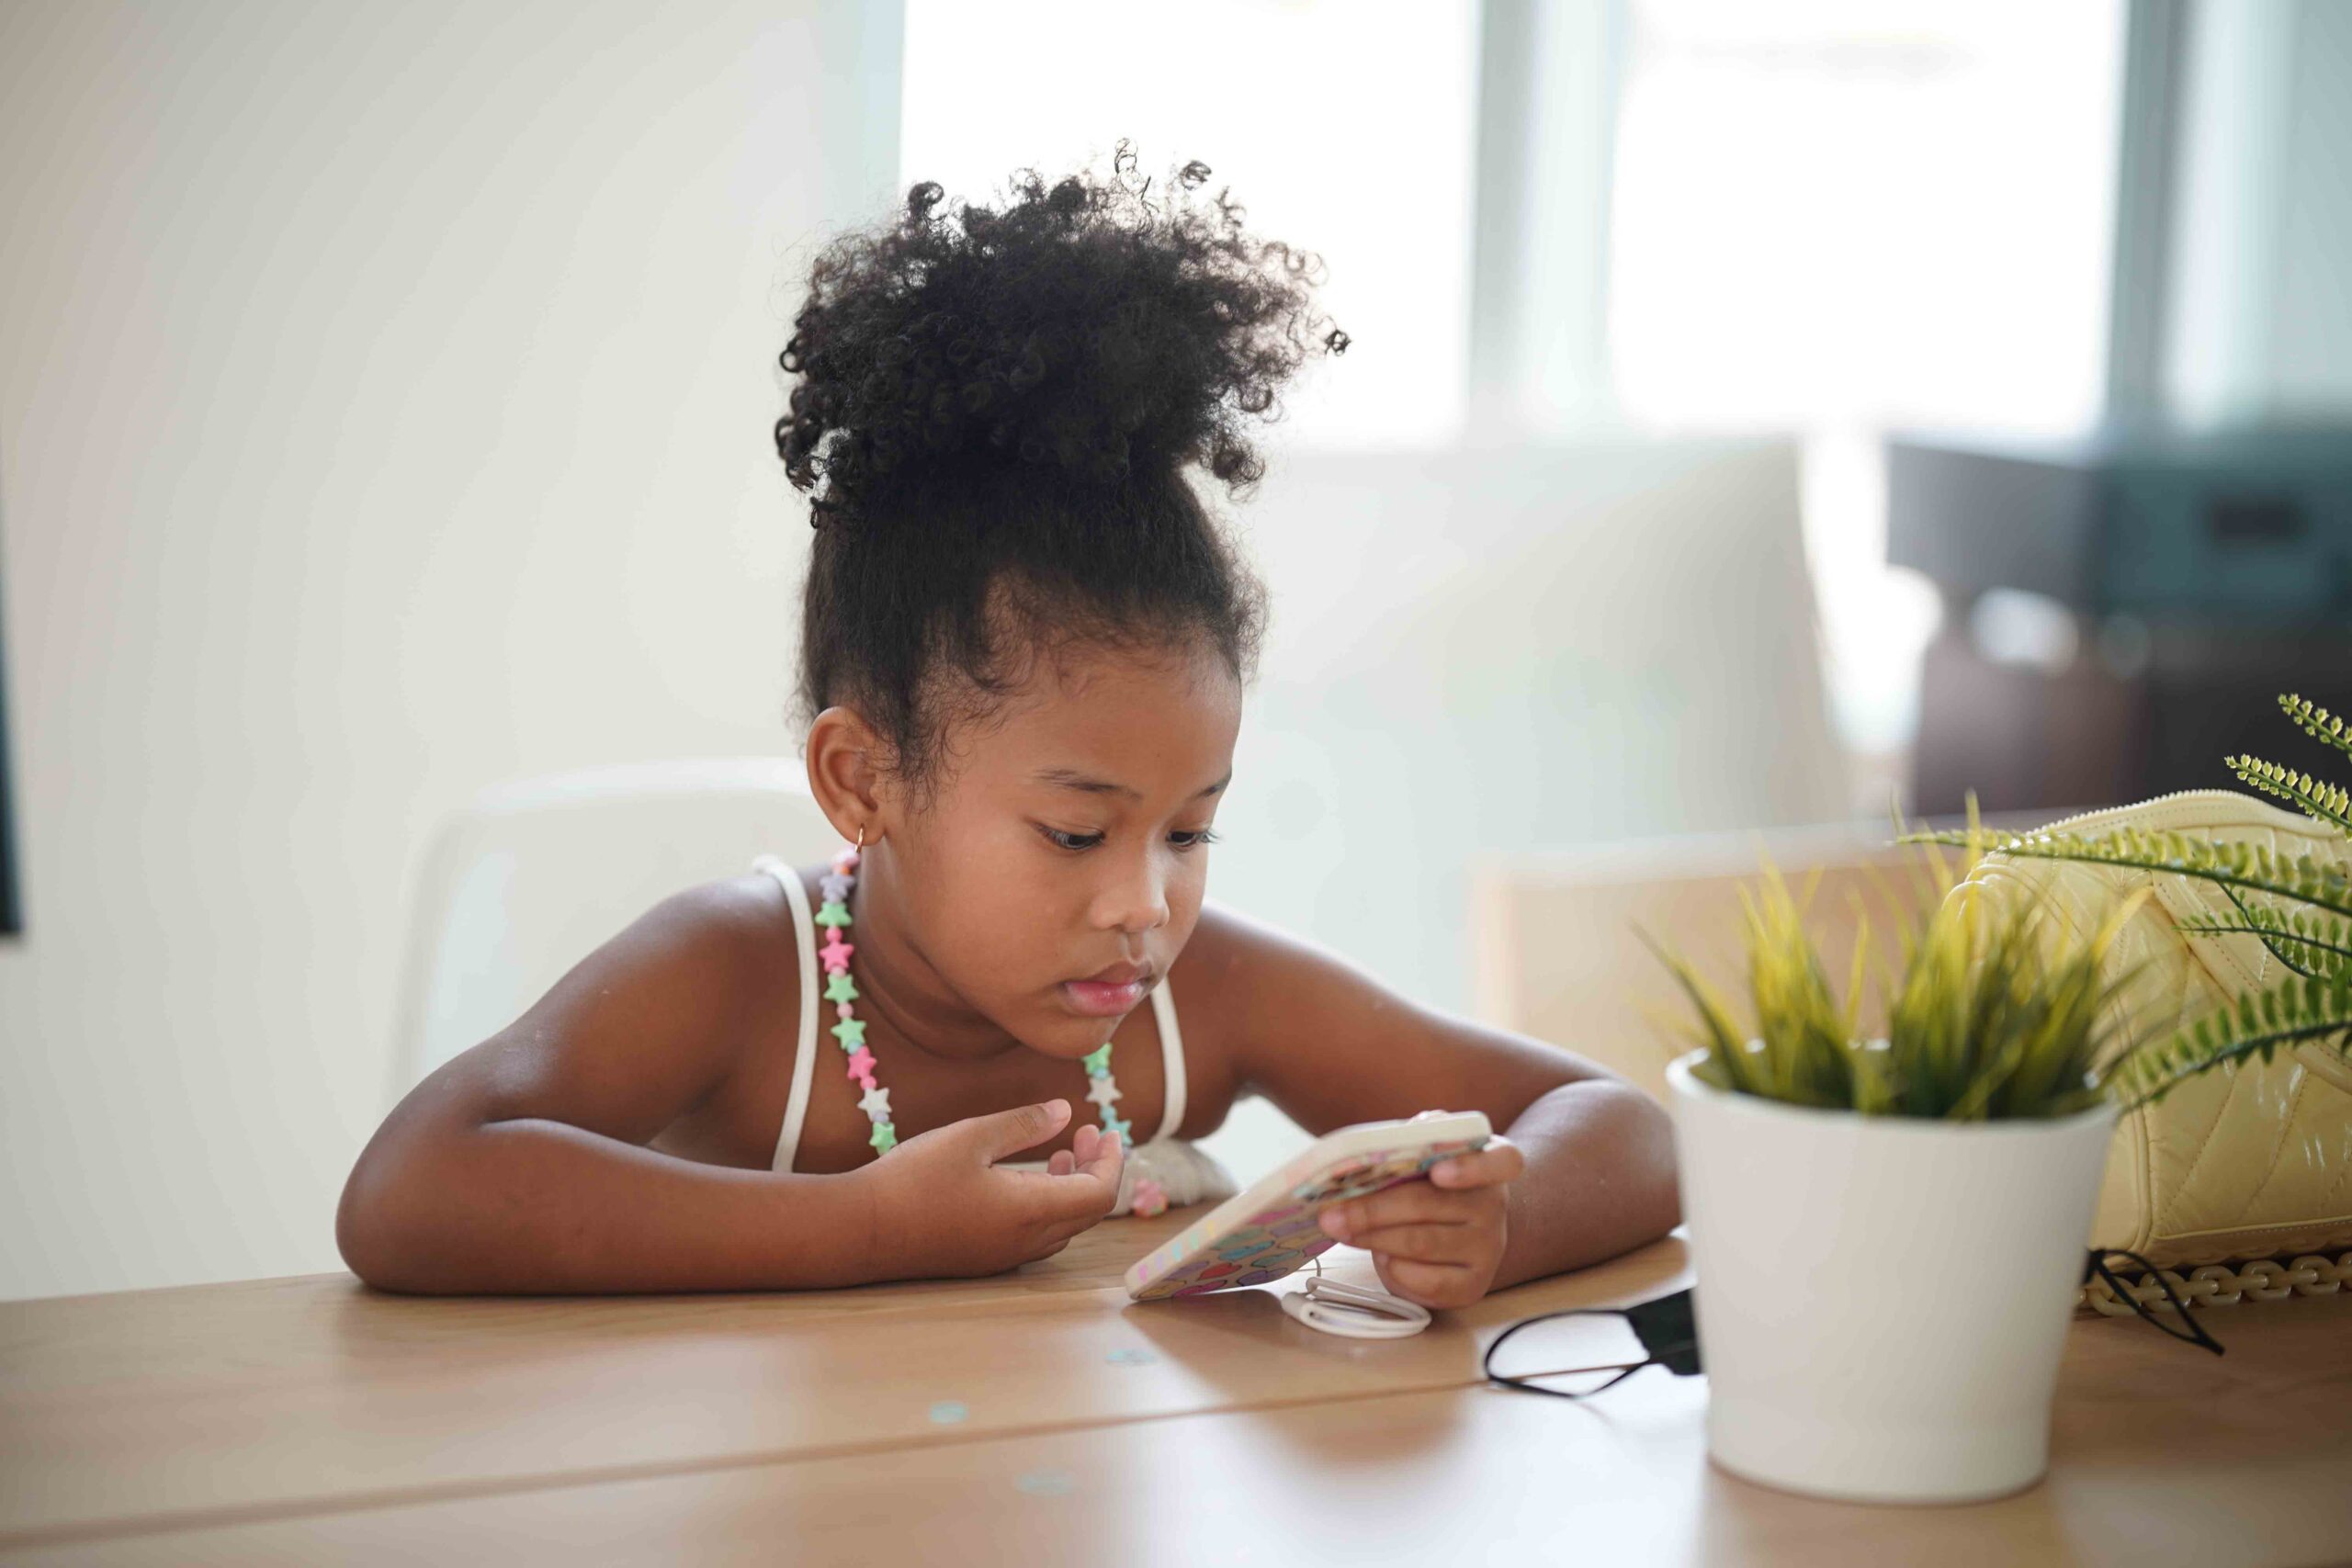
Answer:
[{"label": "white plant pot holding spiky green grass on the table", "polygon": [[1971,1502],[2049,1469],[2051,1394],[2114,1105],[1922,1121],[1668,1067],[1708,1453],[1856,1502]]}]

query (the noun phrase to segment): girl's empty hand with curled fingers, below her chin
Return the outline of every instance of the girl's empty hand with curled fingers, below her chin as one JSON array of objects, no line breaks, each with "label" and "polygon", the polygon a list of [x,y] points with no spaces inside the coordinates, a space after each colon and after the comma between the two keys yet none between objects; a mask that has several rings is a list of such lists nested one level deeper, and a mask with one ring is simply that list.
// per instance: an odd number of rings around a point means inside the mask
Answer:
[{"label": "girl's empty hand with curled fingers, below her chin", "polygon": [[858,1175],[873,1178],[884,1279],[969,1279],[1051,1258],[1120,1201],[1127,1150],[1077,1128],[1047,1171],[1002,1171],[1070,1119],[1068,1100],[969,1117],[908,1138]]}]

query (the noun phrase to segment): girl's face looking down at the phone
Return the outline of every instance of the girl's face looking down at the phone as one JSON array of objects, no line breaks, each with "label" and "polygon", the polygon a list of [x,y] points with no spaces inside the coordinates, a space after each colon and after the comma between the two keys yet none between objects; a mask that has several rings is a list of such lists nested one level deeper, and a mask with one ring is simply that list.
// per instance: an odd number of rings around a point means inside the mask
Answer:
[{"label": "girl's face looking down at the phone", "polygon": [[1192,936],[1240,726],[1240,682],[1209,649],[1037,661],[1002,712],[955,731],[927,809],[887,811],[910,947],[1021,1044],[1101,1046]]}]

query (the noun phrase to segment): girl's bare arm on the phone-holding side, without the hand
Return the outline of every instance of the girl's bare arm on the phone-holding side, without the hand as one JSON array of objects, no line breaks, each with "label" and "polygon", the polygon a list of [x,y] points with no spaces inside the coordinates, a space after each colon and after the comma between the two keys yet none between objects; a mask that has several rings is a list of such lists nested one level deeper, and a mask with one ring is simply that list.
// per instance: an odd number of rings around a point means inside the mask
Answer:
[{"label": "girl's bare arm on the phone-holding side, without the hand", "polygon": [[[1606,1067],[1421,1009],[1214,903],[1188,959],[1209,983],[1192,980],[1188,994],[1216,997],[1240,1084],[1305,1131],[1477,1110],[1519,1147],[1526,1168],[1505,1190],[1505,1244],[1486,1288],[1613,1258],[1679,1222],[1668,1114]],[[1397,1206],[1411,1201],[1397,1194]]]}]

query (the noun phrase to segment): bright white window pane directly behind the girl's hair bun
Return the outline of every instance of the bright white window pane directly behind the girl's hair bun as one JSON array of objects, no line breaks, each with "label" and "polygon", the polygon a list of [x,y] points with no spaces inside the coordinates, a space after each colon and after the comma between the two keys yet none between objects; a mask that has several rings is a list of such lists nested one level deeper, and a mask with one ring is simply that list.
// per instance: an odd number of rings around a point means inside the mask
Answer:
[{"label": "bright white window pane directly behind the girl's hair bun", "polygon": [[1461,435],[1477,92],[1472,0],[908,0],[901,190],[988,200],[1021,167],[1214,169],[1251,233],[1324,259],[1350,336],[1310,360],[1268,437]]}]

